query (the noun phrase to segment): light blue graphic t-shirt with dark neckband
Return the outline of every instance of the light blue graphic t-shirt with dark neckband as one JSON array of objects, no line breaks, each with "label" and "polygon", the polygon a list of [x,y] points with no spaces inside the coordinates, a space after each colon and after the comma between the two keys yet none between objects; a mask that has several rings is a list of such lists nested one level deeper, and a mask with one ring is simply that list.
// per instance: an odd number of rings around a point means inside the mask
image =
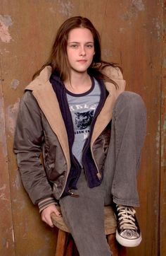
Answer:
[{"label": "light blue graphic t-shirt with dark neckband", "polygon": [[72,145],[72,153],[82,165],[82,150],[90,132],[96,107],[98,106],[101,89],[98,81],[92,78],[92,86],[89,91],[82,94],[74,94],[67,91],[68,105],[72,115],[75,132],[75,140]]}]

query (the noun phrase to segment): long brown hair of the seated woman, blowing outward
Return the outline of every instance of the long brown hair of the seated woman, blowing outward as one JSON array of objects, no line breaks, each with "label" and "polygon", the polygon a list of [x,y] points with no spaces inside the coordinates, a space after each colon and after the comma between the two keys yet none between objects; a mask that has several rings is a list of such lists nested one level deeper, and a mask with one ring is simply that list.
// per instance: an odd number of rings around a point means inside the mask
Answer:
[{"label": "long brown hair of the seated woman, blowing outward", "polygon": [[70,33],[70,30],[74,28],[87,28],[91,31],[91,34],[94,37],[95,54],[93,61],[87,70],[88,74],[90,76],[94,76],[95,78],[111,81],[117,87],[117,84],[112,81],[112,79],[108,78],[106,74],[103,74],[102,69],[105,66],[118,65],[113,62],[105,62],[101,59],[100,35],[96,28],[94,28],[94,25],[91,23],[91,21],[89,21],[88,18],[83,18],[81,16],[68,18],[68,20],[60,25],[48,61],[43,66],[41,66],[41,69],[39,69],[39,71],[37,71],[32,78],[34,79],[36,76],[38,76],[40,71],[44,69],[45,66],[51,66],[52,72],[56,71],[62,81],[65,81],[66,78],[70,77],[70,66],[68,63],[66,48],[68,43],[68,34]]}]

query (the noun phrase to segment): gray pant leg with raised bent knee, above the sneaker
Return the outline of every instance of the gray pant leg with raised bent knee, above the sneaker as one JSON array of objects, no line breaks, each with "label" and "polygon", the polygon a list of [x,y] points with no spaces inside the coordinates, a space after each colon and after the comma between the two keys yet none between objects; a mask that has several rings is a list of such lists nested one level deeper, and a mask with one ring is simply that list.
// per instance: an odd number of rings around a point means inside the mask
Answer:
[{"label": "gray pant leg with raised bent knee, above the sneaker", "polygon": [[139,206],[136,175],[146,135],[146,107],[141,96],[125,91],[113,109],[110,146],[104,169],[105,204]]}]

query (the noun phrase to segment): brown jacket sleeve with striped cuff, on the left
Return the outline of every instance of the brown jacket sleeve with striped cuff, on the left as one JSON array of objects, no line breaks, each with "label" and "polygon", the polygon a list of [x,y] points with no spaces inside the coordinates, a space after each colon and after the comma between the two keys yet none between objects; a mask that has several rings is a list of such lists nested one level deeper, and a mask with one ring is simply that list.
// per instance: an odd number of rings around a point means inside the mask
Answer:
[{"label": "brown jacket sleeve with striped cuff, on the left", "polygon": [[41,123],[41,110],[32,92],[23,95],[15,127],[14,152],[17,155],[18,169],[25,190],[39,209],[56,204],[51,186],[41,163],[41,148],[44,134]]}]

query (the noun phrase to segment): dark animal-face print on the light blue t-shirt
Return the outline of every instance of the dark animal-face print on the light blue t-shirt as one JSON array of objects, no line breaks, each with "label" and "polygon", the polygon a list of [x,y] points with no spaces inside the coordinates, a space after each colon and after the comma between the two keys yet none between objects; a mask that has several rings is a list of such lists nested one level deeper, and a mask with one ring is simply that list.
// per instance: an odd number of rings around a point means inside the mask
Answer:
[{"label": "dark animal-face print on the light blue t-shirt", "polygon": [[94,110],[87,112],[75,112],[75,124],[78,129],[86,129],[91,125],[91,121],[94,116]]}]

